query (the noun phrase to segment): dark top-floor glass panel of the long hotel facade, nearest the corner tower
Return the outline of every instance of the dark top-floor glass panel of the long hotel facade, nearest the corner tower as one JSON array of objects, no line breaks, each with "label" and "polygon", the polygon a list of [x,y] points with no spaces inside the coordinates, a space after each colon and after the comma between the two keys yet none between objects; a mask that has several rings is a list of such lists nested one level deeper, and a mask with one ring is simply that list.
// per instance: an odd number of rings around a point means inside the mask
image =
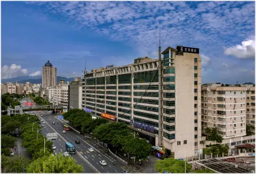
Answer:
[{"label": "dark top-floor glass panel of the long hotel facade, nearest the corner tower", "polygon": [[134,73],[134,83],[158,82],[158,70]]}]

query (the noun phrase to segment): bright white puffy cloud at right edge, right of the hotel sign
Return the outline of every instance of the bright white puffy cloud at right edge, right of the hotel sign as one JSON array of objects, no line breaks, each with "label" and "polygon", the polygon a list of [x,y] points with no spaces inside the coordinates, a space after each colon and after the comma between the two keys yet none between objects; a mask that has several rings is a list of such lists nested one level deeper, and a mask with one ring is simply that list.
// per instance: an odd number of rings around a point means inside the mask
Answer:
[{"label": "bright white puffy cloud at right edge, right of the hotel sign", "polygon": [[245,40],[241,45],[226,48],[225,54],[242,59],[255,58],[255,39]]}]

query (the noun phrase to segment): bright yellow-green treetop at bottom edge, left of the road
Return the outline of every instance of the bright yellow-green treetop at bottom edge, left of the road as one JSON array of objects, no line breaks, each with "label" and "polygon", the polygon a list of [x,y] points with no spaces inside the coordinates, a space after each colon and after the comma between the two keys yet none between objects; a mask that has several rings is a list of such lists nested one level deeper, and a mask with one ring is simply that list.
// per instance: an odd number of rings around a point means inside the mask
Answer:
[{"label": "bright yellow-green treetop at bottom edge, left of the road", "polygon": [[28,173],[81,173],[82,170],[82,165],[76,164],[71,156],[67,158],[61,154],[43,156],[27,167]]}]

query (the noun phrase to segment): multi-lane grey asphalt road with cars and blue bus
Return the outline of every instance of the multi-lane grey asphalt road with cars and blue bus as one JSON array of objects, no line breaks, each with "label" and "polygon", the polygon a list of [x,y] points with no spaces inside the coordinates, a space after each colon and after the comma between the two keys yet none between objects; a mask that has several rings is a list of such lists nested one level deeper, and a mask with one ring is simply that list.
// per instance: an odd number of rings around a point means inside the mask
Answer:
[{"label": "multi-lane grey asphalt road with cars and blue bus", "polygon": [[[38,111],[33,111],[35,114],[39,114]],[[42,111],[41,114],[43,114],[42,119],[46,121],[49,125],[53,127],[53,129],[63,136],[64,139],[68,140],[72,144],[76,146],[76,150],[84,156],[95,168],[98,169],[101,173],[122,173],[123,167],[126,167],[126,164],[121,163],[118,160],[115,160],[116,165],[113,165],[114,159],[109,154],[108,151],[106,151],[104,148],[101,148],[100,146],[97,146],[97,144],[92,143],[90,141],[87,141],[84,136],[78,134],[75,131],[67,131],[67,133],[63,134],[63,123],[59,121],[58,118],[55,117],[55,115],[51,114],[49,111]],[[52,122],[55,122],[55,125],[52,125]],[[59,122],[59,124],[57,124]],[[48,125],[45,125],[45,129],[43,129],[43,132],[54,132],[50,129]],[[45,133],[46,134],[46,133]],[[61,150],[65,151],[65,142],[58,138],[59,140],[55,140],[54,144],[56,145],[56,152],[60,152]],[[75,144],[75,140],[80,140],[80,144]],[[93,147],[94,152],[89,152],[88,148]],[[72,157],[77,156],[77,159],[79,158],[82,160],[77,154],[72,155]],[[107,165],[102,166],[100,164],[101,160],[105,160]],[[77,160],[79,161],[79,160]],[[89,168],[89,167],[86,167]],[[85,168],[85,169],[86,169]],[[88,172],[88,171],[86,171]]]}]

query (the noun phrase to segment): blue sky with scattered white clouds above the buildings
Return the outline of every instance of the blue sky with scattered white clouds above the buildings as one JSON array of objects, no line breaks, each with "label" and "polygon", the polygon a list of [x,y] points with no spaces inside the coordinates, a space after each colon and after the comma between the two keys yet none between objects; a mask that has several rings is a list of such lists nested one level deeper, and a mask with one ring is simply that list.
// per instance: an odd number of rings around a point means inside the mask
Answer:
[{"label": "blue sky with scattered white clouds above the buildings", "polygon": [[2,78],[125,65],[200,48],[203,83],[255,81],[255,2],[1,2]]}]

